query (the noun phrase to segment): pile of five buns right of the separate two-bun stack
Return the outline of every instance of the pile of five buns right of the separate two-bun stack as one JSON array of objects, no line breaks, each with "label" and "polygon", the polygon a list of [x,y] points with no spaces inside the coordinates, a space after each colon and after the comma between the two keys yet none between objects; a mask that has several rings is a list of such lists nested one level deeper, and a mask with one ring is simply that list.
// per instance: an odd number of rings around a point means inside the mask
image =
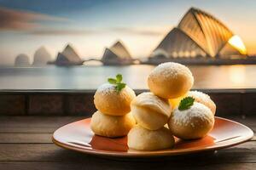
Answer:
[{"label": "pile of five buns right of the separate two-bun stack", "polygon": [[184,65],[168,62],[155,67],[148,76],[151,92],[131,102],[137,125],[128,133],[128,146],[161,150],[173,146],[172,134],[180,139],[204,137],[212,129],[216,106],[207,94],[189,92],[193,83]]}]

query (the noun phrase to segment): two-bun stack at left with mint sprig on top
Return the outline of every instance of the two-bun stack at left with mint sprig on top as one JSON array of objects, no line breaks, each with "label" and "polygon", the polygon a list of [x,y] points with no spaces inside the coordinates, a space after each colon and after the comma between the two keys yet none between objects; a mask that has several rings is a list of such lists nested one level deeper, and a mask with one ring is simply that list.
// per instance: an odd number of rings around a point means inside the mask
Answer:
[{"label": "two-bun stack at left with mint sprig on top", "polygon": [[[119,77],[119,78],[118,78]],[[97,135],[115,138],[127,135],[136,122],[131,116],[131,100],[134,91],[121,82],[122,77],[102,84],[94,95],[96,111],[91,117],[90,128]]]}]

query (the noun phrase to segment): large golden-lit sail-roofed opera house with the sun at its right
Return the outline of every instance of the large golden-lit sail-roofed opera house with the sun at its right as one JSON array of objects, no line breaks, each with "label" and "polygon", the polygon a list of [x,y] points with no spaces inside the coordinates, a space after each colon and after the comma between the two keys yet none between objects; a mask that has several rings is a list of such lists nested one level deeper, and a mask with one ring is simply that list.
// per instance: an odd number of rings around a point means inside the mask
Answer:
[{"label": "large golden-lit sail-roofed opera house with the sun at its right", "polygon": [[211,14],[190,8],[178,26],[160,42],[150,58],[230,59],[247,55],[240,37]]}]

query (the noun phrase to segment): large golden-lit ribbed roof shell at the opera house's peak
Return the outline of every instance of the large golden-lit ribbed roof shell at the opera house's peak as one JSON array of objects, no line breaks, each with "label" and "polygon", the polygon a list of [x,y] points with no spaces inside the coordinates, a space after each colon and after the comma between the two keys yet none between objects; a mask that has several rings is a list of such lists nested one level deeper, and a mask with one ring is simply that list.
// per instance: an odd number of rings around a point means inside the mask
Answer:
[{"label": "large golden-lit ribbed roof shell at the opera house's peak", "polygon": [[177,26],[189,35],[208,55],[214,57],[233,33],[211,14],[190,8]]}]

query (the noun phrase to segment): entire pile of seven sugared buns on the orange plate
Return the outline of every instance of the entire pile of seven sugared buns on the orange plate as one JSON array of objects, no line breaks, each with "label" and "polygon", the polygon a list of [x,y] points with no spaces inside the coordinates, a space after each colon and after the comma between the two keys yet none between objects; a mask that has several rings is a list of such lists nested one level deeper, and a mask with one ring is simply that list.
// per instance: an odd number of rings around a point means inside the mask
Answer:
[{"label": "entire pile of seven sugared buns on the orange plate", "polygon": [[90,127],[97,135],[128,134],[131,149],[163,150],[175,144],[173,136],[200,139],[212,129],[216,105],[207,94],[189,91],[194,77],[188,67],[173,62],[156,66],[148,76],[150,92],[137,97],[121,81],[118,75],[96,91],[98,111]]}]

